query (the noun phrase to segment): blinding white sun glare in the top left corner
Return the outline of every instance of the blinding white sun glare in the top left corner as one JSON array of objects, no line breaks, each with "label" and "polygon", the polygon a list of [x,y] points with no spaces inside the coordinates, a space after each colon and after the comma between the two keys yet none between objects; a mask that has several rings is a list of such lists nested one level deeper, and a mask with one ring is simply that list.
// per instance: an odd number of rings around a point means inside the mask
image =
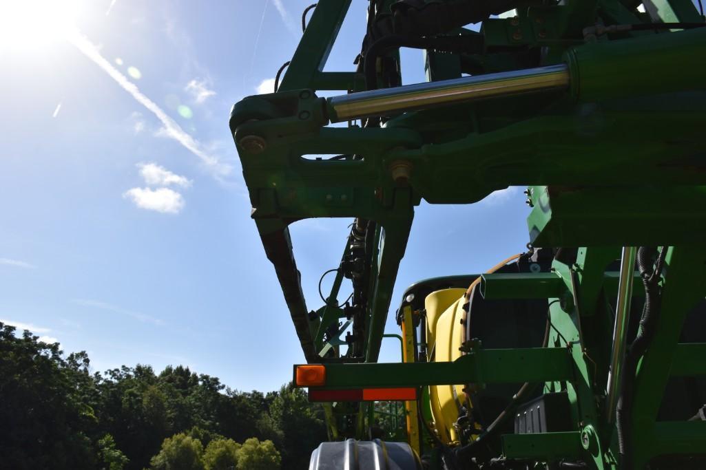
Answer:
[{"label": "blinding white sun glare in the top left corner", "polygon": [[0,49],[44,52],[75,28],[77,0],[0,1]]}]

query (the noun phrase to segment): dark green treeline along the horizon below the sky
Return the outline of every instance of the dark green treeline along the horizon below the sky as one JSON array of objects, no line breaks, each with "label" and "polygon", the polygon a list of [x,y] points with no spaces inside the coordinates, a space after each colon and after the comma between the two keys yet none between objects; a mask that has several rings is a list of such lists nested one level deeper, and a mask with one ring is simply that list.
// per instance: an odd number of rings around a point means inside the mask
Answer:
[{"label": "dark green treeline along the horizon below the sky", "polygon": [[321,406],[291,385],[238,392],[182,366],[89,371],[0,323],[2,469],[306,469]]}]

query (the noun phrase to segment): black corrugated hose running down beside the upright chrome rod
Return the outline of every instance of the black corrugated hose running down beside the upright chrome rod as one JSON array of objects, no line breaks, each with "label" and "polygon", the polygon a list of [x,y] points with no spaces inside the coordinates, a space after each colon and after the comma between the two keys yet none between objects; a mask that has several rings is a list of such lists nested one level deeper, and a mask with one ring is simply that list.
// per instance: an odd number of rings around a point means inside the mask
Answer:
[{"label": "black corrugated hose running down beside the upright chrome rod", "polygon": [[657,262],[652,270],[652,255],[654,248],[640,247],[638,250],[638,271],[645,286],[645,306],[642,308],[640,318],[640,329],[638,335],[630,347],[625,357],[623,365],[623,377],[621,382],[620,396],[616,406],[616,429],[618,433],[618,452],[620,456],[620,468],[623,470],[633,469],[633,442],[630,435],[630,422],[633,416],[633,397],[635,394],[635,373],[638,368],[640,358],[650,347],[654,337],[655,327],[659,320],[661,310],[662,292],[659,289],[659,277],[662,274],[666,247],[662,247]]}]

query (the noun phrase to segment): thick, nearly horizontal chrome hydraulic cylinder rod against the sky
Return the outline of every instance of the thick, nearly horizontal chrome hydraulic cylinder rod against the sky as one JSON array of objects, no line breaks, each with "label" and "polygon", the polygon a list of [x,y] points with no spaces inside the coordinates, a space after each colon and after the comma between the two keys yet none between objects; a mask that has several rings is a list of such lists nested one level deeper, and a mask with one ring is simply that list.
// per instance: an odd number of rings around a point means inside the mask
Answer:
[{"label": "thick, nearly horizontal chrome hydraulic cylinder rod against the sky", "polygon": [[457,102],[520,93],[566,90],[566,64],[383,88],[328,99],[331,122],[414,111]]}]

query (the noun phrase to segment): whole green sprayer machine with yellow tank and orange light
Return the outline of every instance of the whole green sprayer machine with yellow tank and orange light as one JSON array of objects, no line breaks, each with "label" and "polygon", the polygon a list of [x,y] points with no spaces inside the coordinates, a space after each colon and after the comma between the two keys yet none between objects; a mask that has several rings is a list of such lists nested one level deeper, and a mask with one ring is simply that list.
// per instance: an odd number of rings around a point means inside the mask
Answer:
[{"label": "whole green sprayer machine with yellow tank and orange light", "polygon": [[[354,70],[324,71],[351,1],[311,6],[275,92],[230,117],[294,384],[325,409],[309,468],[706,469],[700,5],[370,0]],[[402,85],[400,48],[425,83]],[[414,207],[508,186],[524,252],[391,306]],[[352,222],[318,310],[288,230],[311,217]],[[388,315],[400,363],[378,363]]]}]

